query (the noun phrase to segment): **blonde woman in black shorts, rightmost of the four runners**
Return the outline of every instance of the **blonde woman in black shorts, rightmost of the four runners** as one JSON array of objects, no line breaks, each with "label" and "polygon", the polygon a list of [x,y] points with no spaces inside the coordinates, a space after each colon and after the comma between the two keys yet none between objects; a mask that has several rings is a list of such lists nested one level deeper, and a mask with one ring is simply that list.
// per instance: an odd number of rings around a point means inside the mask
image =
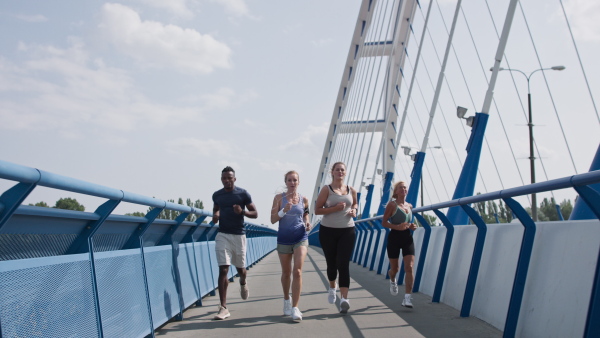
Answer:
[{"label": "blonde woman in black shorts, rightmost of the four runners", "polygon": [[388,234],[387,254],[390,260],[390,293],[393,296],[398,294],[398,281],[396,275],[400,270],[400,250],[402,250],[402,259],[404,261],[405,295],[402,300],[402,306],[412,308],[411,294],[414,281],[413,265],[415,263],[415,244],[413,242],[410,230],[417,229],[412,220],[412,205],[406,202],[408,187],[406,182],[400,181],[394,185],[394,193],[391,200],[385,207],[383,213],[382,225],[391,229]]}]

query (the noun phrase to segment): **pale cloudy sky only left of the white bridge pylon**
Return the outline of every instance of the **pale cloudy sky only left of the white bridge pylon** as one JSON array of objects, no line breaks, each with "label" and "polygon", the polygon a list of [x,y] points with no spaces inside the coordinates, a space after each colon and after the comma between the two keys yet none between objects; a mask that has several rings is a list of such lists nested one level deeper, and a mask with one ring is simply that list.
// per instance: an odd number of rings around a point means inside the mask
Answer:
[{"label": "pale cloudy sky only left of the white bridge pylon", "polygon": [[[232,166],[270,224],[286,171],[312,194],[359,5],[3,1],[0,159],[209,210]],[[67,196],[102,202],[26,203]]]}]

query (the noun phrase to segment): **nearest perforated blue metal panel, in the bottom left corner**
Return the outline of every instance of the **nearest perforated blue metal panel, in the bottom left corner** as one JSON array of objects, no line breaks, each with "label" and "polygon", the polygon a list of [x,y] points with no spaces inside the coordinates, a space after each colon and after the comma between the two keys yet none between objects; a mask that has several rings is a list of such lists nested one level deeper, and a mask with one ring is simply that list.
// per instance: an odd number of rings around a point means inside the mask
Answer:
[{"label": "nearest perforated blue metal panel, in the bottom left corner", "polygon": [[0,262],[3,337],[97,337],[87,254]]}]

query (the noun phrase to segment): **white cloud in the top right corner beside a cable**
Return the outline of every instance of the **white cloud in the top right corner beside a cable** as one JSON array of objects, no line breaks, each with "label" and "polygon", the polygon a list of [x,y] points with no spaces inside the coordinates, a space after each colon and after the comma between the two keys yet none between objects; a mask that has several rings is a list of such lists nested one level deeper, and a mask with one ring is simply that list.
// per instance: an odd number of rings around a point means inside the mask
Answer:
[{"label": "white cloud in the top right corner beside a cable", "polygon": [[[600,2],[596,0],[570,0],[564,3],[575,38],[600,41]],[[563,17],[562,9],[560,17]]]}]

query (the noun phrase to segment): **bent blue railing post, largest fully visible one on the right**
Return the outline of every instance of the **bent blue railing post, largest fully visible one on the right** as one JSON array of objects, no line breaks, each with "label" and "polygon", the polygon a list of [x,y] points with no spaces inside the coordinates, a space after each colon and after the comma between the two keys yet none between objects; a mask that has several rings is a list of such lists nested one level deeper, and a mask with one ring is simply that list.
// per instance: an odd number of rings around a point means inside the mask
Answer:
[{"label": "bent blue railing post, largest fully visible one on the right", "polygon": [[529,217],[529,214],[519,202],[512,198],[502,198],[504,203],[515,213],[519,221],[525,227],[523,240],[521,241],[521,250],[517,262],[517,271],[515,272],[515,281],[508,303],[508,313],[506,323],[504,324],[503,337],[514,337],[519,322],[519,313],[521,312],[521,303],[525,291],[525,282],[529,271],[529,262],[531,261],[531,252],[533,251],[533,241],[535,239],[535,222]]}]

